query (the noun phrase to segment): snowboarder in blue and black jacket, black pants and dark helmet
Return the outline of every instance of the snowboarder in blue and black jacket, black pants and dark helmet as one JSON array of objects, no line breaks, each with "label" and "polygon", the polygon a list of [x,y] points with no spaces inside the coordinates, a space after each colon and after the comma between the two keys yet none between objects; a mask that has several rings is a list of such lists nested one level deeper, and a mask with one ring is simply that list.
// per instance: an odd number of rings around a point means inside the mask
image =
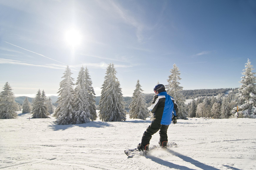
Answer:
[{"label": "snowboarder in blue and black jacket, black pants and dark helmet", "polygon": [[143,133],[141,143],[138,144],[137,148],[139,150],[148,150],[149,141],[153,134],[155,134],[159,129],[160,141],[159,145],[163,148],[167,145],[167,129],[171,122],[175,124],[177,122],[178,116],[178,105],[175,103],[174,99],[167,94],[165,86],[158,84],[154,88],[155,96],[150,106],[151,113],[154,114],[151,125]]}]

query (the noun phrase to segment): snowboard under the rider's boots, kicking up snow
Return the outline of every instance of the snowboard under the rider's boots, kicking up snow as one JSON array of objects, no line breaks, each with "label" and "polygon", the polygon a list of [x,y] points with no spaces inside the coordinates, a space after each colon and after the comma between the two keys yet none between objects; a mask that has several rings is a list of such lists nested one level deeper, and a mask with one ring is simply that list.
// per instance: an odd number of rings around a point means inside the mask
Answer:
[{"label": "snowboard under the rider's boots, kicking up snow", "polygon": [[[171,148],[171,147],[177,147],[177,144],[175,142],[172,143],[167,143],[166,148]],[[156,148],[161,148],[159,145],[153,145],[153,146],[149,146],[147,151],[140,151],[138,148],[135,149],[126,149],[124,150],[124,153],[129,156],[129,157],[134,157],[135,155],[146,155],[148,152],[156,149]],[[163,148],[165,149],[165,148]]]}]

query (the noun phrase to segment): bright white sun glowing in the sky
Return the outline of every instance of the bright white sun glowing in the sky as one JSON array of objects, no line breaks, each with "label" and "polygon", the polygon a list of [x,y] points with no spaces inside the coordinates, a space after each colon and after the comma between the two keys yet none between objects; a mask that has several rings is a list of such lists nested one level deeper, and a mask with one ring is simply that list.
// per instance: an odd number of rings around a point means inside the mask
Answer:
[{"label": "bright white sun glowing in the sky", "polygon": [[65,41],[72,47],[76,47],[81,43],[82,36],[76,29],[68,30],[65,34]]}]

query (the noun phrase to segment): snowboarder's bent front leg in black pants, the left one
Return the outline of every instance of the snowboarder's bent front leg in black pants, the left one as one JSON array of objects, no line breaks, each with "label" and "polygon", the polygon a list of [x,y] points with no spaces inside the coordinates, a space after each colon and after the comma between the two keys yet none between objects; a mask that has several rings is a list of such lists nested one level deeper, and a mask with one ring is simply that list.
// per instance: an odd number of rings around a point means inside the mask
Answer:
[{"label": "snowboarder's bent front leg in black pants, the left one", "polygon": [[160,128],[161,128],[161,125],[153,121],[151,125],[143,133],[141,144],[143,146],[146,146],[147,144],[149,144],[149,141],[152,138],[152,135],[155,134]]}]

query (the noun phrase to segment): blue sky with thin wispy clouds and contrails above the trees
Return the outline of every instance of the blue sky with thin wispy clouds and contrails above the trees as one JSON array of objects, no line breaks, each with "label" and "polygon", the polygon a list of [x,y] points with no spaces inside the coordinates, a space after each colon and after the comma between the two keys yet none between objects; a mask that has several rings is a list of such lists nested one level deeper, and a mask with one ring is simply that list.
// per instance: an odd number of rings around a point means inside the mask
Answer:
[{"label": "blue sky with thin wispy clouds and contrails above the trees", "polygon": [[254,0],[1,0],[0,87],[57,94],[66,65],[75,81],[83,65],[100,95],[109,63],[124,96],[138,79],[144,93],[166,85],[174,63],[184,90],[239,87],[247,58],[256,66],[255,11]]}]

